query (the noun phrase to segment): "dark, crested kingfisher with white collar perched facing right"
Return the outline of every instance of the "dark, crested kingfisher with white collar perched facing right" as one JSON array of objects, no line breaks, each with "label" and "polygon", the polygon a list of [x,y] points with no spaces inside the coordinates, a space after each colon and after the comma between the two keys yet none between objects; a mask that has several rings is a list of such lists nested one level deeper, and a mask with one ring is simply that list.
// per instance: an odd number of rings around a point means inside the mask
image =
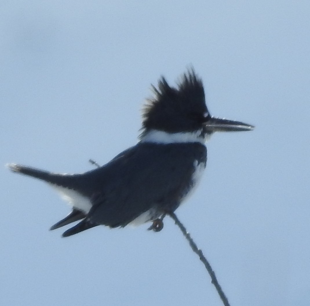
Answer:
[{"label": "dark, crested kingfisher with white collar perched facing right", "polygon": [[173,213],[193,191],[206,167],[205,146],[214,132],[249,131],[254,126],[212,117],[201,79],[193,69],[177,88],[162,77],[143,112],[138,143],[102,167],[81,174],[57,174],[17,164],[13,172],[53,186],[73,207],[51,230],[81,220],[71,236],[98,225],[125,227]]}]

